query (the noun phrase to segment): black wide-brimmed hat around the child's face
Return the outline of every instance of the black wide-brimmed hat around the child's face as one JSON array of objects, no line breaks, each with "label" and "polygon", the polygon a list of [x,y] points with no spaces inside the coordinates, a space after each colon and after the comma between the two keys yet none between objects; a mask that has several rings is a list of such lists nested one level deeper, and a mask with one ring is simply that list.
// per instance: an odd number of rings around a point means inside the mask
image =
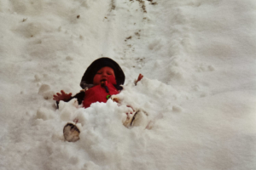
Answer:
[{"label": "black wide-brimmed hat around the child's face", "polygon": [[118,86],[124,84],[125,74],[122,71],[119,64],[117,64],[113,59],[102,57],[100,59],[96,59],[95,61],[93,61],[87,68],[87,70],[84,72],[84,76],[82,77],[80,83],[81,88],[85,88],[89,84],[93,84],[93,78],[96,75],[96,72],[104,66],[108,66],[113,69],[115,80]]}]

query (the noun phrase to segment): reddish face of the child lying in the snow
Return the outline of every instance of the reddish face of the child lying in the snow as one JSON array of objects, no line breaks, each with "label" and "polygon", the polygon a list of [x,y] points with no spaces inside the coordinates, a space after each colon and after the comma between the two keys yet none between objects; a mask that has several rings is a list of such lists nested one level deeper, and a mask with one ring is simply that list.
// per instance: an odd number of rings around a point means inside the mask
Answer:
[{"label": "reddish face of the child lying in the snow", "polygon": [[96,72],[96,75],[93,78],[93,85],[99,85],[101,84],[101,81],[109,81],[109,77],[114,77],[114,71],[112,68],[105,66],[102,67],[101,70]]}]

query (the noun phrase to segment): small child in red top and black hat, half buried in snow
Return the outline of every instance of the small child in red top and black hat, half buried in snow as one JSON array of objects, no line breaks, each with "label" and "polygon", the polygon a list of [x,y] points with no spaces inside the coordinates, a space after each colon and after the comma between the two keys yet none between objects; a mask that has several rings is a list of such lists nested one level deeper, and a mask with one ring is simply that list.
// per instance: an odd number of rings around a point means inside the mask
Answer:
[{"label": "small child in red top and black hat, half buried in snow", "polygon": [[[139,75],[135,84],[143,78]],[[125,82],[125,74],[120,66],[109,58],[96,59],[84,72],[80,86],[83,90],[79,94],[71,96],[61,90],[61,94],[54,95],[57,106],[60,100],[69,101],[73,98],[78,99],[79,105],[84,108],[90,107],[92,103],[104,102],[123,89],[121,85]],[[67,123],[63,129],[64,138],[69,142],[75,142],[79,139],[79,129],[72,123]]]}]

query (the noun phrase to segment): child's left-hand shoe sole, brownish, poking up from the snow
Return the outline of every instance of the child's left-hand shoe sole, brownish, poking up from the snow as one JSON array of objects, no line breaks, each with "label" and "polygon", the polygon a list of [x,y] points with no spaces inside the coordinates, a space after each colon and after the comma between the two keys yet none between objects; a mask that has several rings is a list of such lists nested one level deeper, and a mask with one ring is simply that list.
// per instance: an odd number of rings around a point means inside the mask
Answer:
[{"label": "child's left-hand shoe sole, brownish, poking up from the snow", "polygon": [[63,128],[64,139],[68,142],[76,142],[79,140],[79,128],[71,122],[68,122],[67,125]]}]

